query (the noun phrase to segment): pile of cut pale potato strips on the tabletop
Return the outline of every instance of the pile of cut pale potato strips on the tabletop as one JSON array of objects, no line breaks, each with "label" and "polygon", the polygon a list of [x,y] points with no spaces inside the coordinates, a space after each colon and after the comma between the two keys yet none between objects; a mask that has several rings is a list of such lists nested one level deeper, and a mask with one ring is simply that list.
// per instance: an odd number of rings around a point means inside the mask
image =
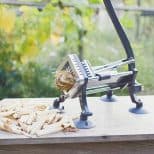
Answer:
[{"label": "pile of cut pale potato strips on the tabletop", "polygon": [[48,110],[49,105],[23,102],[0,104],[0,130],[27,137],[77,131],[73,123],[76,116],[68,116],[57,109]]}]

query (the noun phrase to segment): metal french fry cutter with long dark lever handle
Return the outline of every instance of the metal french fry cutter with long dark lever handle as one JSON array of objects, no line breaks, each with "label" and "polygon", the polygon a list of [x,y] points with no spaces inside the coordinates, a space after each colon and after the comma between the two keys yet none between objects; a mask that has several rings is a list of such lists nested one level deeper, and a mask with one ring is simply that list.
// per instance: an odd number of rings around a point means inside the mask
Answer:
[{"label": "metal french fry cutter with long dark lever handle", "polygon": [[[64,92],[64,95],[54,101],[54,108],[58,108],[60,102],[64,102],[68,97],[79,97],[82,112],[80,119],[75,123],[78,128],[83,129],[93,127],[88,120],[88,116],[91,116],[92,113],[87,105],[87,94],[105,91],[107,97],[111,98],[113,90],[127,87],[132,102],[136,104],[135,109],[141,109],[143,106],[141,100],[136,97],[136,93],[141,91],[142,86],[136,82],[137,69],[130,42],[116,16],[111,1],[104,0],[104,4],[123,44],[126,59],[91,67],[87,61],[81,62],[78,56],[73,54],[68,55],[68,58],[57,69],[57,71],[65,69],[72,71],[76,76],[76,83],[68,92]],[[128,71],[118,73],[116,69],[122,65],[128,65]]]}]

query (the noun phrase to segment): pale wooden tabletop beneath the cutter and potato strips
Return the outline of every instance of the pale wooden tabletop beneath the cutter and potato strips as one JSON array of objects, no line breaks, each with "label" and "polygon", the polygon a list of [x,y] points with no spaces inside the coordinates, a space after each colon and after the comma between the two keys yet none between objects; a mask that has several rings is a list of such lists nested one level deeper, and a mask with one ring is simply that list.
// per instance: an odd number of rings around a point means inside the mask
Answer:
[{"label": "pale wooden tabletop beneath the cutter and potato strips", "polygon": [[[140,96],[148,114],[138,115],[128,110],[135,107],[129,97],[120,96],[117,102],[102,102],[99,97],[89,97],[89,109],[93,116],[89,118],[96,126],[79,130],[75,133],[56,133],[37,138],[0,131],[0,145],[13,144],[55,144],[83,142],[114,142],[154,140],[154,96]],[[27,101],[52,103],[53,98],[4,99],[0,103]],[[68,113],[80,113],[78,99],[70,99],[64,103]]]}]

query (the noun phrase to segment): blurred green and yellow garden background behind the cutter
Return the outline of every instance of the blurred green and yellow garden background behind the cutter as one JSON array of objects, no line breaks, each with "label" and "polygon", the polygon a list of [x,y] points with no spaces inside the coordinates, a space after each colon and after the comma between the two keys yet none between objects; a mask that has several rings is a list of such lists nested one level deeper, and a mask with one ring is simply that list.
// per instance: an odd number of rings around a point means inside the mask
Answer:
[{"label": "blurred green and yellow garden background behind the cutter", "polygon": [[[154,1],[112,2],[134,49],[141,94],[154,94]],[[0,0],[0,99],[58,96],[55,70],[69,53],[93,66],[126,57],[101,0]]]}]

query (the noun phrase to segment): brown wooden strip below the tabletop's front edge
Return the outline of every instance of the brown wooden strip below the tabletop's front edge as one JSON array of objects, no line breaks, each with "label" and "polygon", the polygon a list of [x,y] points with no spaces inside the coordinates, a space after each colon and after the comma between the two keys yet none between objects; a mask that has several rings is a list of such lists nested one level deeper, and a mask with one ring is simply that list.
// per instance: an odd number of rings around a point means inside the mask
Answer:
[{"label": "brown wooden strip below the tabletop's front edge", "polygon": [[0,154],[153,154],[154,142],[64,143],[0,146]]}]

